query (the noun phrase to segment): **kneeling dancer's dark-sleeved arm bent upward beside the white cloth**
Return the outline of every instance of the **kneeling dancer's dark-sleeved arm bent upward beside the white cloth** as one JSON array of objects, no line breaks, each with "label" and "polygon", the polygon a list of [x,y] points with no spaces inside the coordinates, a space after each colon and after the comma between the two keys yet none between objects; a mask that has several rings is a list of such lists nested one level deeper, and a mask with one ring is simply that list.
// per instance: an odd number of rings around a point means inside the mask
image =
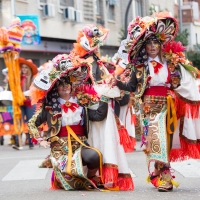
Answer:
[{"label": "kneeling dancer's dark-sleeved arm bent upward beside the white cloth", "polygon": [[90,121],[102,121],[107,116],[109,98],[102,96],[97,110],[88,109]]}]

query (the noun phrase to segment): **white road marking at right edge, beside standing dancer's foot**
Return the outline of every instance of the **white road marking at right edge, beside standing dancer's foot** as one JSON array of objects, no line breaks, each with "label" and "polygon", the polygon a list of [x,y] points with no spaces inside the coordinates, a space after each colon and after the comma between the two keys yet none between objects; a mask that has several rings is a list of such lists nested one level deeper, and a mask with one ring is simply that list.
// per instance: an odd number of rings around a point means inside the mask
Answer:
[{"label": "white road marking at right edge, beside standing dancer's foot", "polygon": [[199,160],[185,160],[182,162],[171,162],[171,167],[184,177],[197,178],[200,177],[200,161]]}]

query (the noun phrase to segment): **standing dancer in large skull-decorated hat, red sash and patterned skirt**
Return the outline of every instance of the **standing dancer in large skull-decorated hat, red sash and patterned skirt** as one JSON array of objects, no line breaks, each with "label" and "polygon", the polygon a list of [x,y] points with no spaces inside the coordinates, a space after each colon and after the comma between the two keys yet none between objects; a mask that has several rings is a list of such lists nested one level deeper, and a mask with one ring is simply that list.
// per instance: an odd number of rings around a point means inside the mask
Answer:
[{"label": "standing dancer in large skull-decorated hat, red sash and patterned skirt", "polygon": [[[169,13],[158,13],[154,17],[136,17],[128,27],[129,62],[134,68],[128,83],[112,80],[122,90],[135,92],[142,111],[143,136],[141,146],[145,146],[148,170],[155,161],[155,169],[149,181],[158,191],[171,191],[173,180],[170,172],[170,134],[176,128],[173,102],[168,97],[170,72],[162,56],[162,45],[174,38],[178,30],[177,21]],[[171,113],[173,117],[171,117]],[[166,122],[166,116],[168,119]],[[171,118],[172,120],[171,120]],[[169,133],[169,126],[173,129]]]}]

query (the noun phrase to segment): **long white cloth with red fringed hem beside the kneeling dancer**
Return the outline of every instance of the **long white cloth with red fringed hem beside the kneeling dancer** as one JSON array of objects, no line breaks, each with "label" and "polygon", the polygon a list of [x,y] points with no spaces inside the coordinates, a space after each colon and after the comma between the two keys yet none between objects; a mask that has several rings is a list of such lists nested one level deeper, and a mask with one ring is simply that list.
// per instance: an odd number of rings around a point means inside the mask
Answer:
[{"label": "long white cloth with red fringed hem beside the kneeling dancer", "polygon": [[[90,120],[88,141],[103,154],[103,181],[106,187],[110,190],[133,190],[134,184],[125,156],[125,150],[130,149],[129,142],[125,141],[129,135],[112,107],[112,99],[119,97],[120,91],[116,87],[108,91],[105,87],[101,88],[101,94],[104,96],[103,101],[109,105],[107,116],[100,122]],[[95,104],[89,110],[97,108],[98,104]]]}]

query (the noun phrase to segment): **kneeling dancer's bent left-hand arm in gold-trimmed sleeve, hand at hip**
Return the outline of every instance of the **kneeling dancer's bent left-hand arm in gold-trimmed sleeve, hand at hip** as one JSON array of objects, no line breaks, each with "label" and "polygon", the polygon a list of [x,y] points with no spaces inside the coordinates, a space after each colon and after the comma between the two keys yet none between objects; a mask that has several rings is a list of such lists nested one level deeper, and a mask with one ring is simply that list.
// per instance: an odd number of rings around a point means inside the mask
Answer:
[{"label": "kneeling dancer's bent left-hand arm in gold-trimmed sleeve, hand at hip", "polygon": [[42,107],[28,121],[29,133],[32,136],[32,138],[35,139],[41,138],[38,127],[46,121],[47,121],[47,111]]}]

